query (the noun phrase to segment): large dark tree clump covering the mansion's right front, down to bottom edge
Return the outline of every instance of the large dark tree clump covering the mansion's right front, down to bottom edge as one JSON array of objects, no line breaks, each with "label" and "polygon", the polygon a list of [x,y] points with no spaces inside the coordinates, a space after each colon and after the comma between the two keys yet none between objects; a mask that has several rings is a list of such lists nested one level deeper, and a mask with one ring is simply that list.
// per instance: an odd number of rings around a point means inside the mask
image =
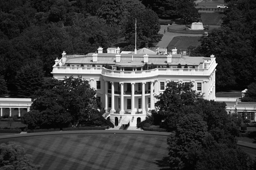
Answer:
[{"label": "large dark tree clump covering the mansion's right front, down to bottom edge", "polygon": [[159,123],[154,118],[161,118],[161,126],[173,130],[167,139],[170,167],[251,169],[252,159],[236,146],[241,117],[228,114],[224,102],[203,99],[192,87],[192,83],[167,83],[165,91],[156,96],[158,116],[146,120],[153,124]]}]

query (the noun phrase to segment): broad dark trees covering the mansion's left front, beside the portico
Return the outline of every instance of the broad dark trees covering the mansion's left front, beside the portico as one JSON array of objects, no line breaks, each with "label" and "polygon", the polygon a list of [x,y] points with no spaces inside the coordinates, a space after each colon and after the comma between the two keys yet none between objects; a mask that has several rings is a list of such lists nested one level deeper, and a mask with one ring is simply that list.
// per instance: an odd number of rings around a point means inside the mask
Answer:
[{"label": "broad dark trees covering the mansion's left front, beside the portico", "polygon": [[62,128],[70,123],[76,127],[80,121],[99,121],[97,125],[108,125],[102,120],[96,90],[81,77],[46,80],[32,97],[32,102],[31,110],[22,117],[29,129]]}]

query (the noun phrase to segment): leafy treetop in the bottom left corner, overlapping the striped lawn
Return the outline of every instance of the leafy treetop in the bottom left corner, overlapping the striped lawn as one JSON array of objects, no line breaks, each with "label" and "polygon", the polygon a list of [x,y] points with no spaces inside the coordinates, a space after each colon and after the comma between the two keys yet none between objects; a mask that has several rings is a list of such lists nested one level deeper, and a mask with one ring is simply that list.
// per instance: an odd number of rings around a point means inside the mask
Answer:
[{"label": "leafy treetop in the bottom left corner, overlapping the striped lawn", "polygon": [[1,169],[41,169],[42,165],[33,164],[31,156],[25,153],[22,146],[14,142],[0,144]]}]

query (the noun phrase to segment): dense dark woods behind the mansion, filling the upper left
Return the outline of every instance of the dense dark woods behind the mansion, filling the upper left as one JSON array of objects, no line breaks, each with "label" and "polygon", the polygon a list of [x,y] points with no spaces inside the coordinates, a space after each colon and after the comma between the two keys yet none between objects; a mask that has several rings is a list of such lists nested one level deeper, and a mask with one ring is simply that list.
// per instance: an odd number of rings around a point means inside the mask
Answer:
[{"label": "dense dark woods behind the mansion, filling the upper left", "polygon": [[[61,57],[62,51],[68,54],[95,52],[99,46],[111,47],[124,33],[127,34],[124,49],[134,50],[134,24],[131,30],[126,30],[126,23],[129,19],[134,22],[134,16],[148,20],[138,21],[138,43],[159,41],[158,18],[139,0],[0,1],[0,76],[6,82],[9,95],[29,97],[35,90],[31,86],[23,88],[24,82],[17,83],[21,78],[18,71],[33,61],[40,63],[44,76],[51,77],[54,60]],[[40,79],[32,74],[31,80],[27,78],[28,83]]]}]

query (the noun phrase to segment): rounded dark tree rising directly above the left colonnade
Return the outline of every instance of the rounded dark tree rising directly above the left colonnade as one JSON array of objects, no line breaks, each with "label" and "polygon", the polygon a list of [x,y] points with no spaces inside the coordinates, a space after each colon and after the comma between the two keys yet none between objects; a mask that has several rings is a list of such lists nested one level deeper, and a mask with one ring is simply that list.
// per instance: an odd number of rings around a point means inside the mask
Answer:
[{"label": "rounded dark tree rising directly above the left colonnade", "polygon": [[40,61],[24,65],[17,72],[18,96],[31,97],[43,83],[43,69]]}]

